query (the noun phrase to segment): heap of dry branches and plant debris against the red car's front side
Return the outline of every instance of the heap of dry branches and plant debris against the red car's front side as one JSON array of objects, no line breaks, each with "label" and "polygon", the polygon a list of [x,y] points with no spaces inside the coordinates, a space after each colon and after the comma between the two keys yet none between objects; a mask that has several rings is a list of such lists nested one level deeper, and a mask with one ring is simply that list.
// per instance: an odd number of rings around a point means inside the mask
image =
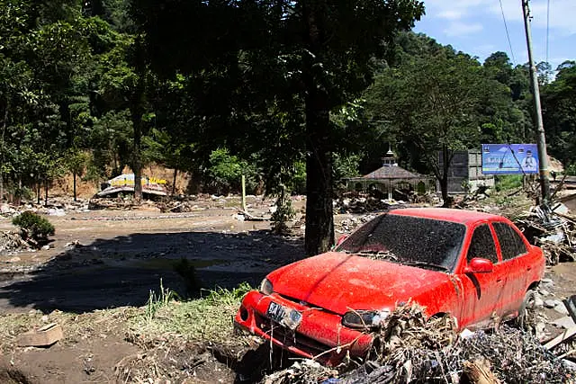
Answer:
[{"label": "heap of dry branches and plant debris against the red car's front side", "polygon": [[570,365],[520,329],[500,325],[491,332],[458,334],[451,317],[427,319],[422,307],[409,303],[374,333],[373,351],[360,367],[350,371],[347,364],[335,374],[300,362],[262,383],[563,383],[575,377]]}]

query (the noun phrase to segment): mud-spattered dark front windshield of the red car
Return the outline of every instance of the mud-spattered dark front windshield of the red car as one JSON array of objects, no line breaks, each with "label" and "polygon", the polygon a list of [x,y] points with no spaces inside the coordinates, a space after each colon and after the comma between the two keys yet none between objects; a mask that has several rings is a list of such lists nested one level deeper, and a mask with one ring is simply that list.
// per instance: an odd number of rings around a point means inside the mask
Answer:
[{"label": "mud-spattered dark front windshield of the red car", "polygon": [[384,214],[358,229],[336,251],[452,272],[465,232],[463,224],[450,221]]}]

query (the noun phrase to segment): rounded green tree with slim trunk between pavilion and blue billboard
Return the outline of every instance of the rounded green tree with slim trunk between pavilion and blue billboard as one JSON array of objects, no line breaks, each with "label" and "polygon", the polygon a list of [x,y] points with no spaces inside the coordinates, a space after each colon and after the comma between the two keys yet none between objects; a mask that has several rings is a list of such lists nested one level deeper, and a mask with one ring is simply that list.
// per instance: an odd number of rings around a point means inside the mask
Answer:
[{"label": "rounded green tree with slim trunk between pavilion and blue billboard", "polygon": [[373,119],[390,121],[389,137],[419,149],[440,183],[446,205],[455,151],[479,144],[478,109],[492,91],[475,59],[445,49],[386,70],[366,99]]}]

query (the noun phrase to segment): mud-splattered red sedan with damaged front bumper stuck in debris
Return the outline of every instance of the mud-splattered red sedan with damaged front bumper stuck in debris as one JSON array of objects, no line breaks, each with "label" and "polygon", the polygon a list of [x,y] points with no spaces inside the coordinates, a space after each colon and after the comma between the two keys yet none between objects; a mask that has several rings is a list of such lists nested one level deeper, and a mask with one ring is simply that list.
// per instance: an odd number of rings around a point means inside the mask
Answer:
[{"label": "mud-splattered red sedan with damaged front bumper stuck in debris", "polygon": [[415,208],[379,215],[332,252],[269,273],[235,323],[293,353],[363,356],[369,331],[410,299],[459,329],[518,317],[542,279],[542,250],[500,216]]}]

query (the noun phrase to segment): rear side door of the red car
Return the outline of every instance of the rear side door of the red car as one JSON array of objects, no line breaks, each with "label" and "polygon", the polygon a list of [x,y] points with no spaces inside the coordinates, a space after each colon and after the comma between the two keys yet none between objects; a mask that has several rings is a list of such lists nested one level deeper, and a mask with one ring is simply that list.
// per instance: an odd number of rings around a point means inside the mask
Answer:
[{"label": "rear side door of the red car", "polygon": [[528,253],[528,248],[516,229],[505,222],[492,223],[498,239],[501,273],[505,281],[505,295],[500,300],[502,316],[514,314],[524,299],[527,290],[527,276],[532,267],[531,263],[524,263],[523,256]]}]

